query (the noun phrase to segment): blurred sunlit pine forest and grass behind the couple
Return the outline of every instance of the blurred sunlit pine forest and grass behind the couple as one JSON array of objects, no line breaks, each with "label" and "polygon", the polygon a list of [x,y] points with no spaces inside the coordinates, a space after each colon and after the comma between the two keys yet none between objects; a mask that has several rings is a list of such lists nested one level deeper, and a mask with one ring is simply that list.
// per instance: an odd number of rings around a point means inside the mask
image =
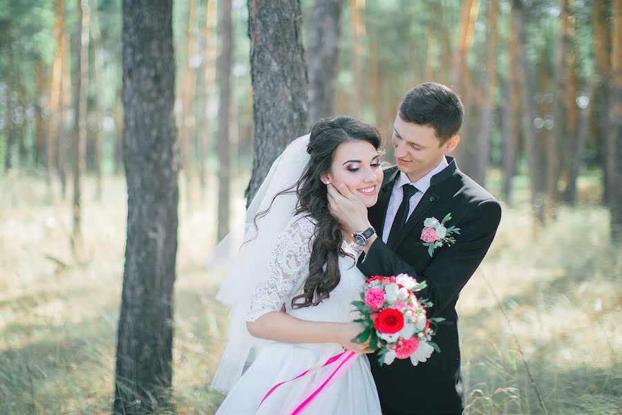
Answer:
[{"label": "blurred sunlit pine forest and grass behind the couple", "polygon": [[[227,310],[214,299],[221,274],[205,259],[243,218],[258,166],[296,138],[258,131],[271,116],[253,105],[267,95],[249,59],[252,35],[270,27],[249,25],[261,3],[187,0],[170,10],[180,175],[163,412],[212,414],[223,398],[209,383]],[[348,113],[379,128],[392,163],[408,89],[442,82],[464,102],[458,165],[504,208],[458,302],[466,414],[617,413],[622,1],[273,3],[299,25],[300,38],[283,26],[283,42],[305,50],[300,133]],[[120,0],[0,0],[3,414],[109,413],[118,391],[125,172],[142,169],[123,154],[126,13]],[[261,160],[258,145],[268,150]]]}]

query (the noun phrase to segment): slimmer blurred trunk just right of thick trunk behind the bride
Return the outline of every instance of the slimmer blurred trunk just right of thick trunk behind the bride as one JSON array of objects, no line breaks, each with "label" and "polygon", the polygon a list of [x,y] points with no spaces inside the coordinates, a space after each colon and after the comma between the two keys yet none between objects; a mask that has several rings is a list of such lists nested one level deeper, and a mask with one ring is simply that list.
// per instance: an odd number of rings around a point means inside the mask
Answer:
[{"label": "slimmer blurred trunk just right of thick trunk behind the bride", "polygon": [[309,36],[309,120],[333,115],[343,0],[315,0]]}]

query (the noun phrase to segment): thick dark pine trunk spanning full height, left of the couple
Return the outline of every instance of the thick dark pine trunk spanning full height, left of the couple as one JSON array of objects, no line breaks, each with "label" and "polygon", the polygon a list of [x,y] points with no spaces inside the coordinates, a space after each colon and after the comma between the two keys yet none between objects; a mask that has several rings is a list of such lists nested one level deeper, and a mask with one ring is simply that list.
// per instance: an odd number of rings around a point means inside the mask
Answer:
[{"label": "thick dark pine trunk spanning full height, left of the couple", "polygon": [[122,5],[127,242],[114,414],[173,412],[178,147],[172,0]]}]

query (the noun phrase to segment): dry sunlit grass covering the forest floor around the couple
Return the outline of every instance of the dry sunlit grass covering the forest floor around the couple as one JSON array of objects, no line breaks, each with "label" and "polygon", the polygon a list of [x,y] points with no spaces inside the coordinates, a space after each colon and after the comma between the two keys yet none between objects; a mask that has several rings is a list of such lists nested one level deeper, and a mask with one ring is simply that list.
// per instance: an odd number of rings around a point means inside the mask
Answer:
[{"label": "dry sunlit grass covering the forest floor around the couple", "polygon": [[[594,181],[582,178],[586,202],[558,208],[536,234],[521,180],[516,206],[504,205],[493,246],[458,302],[465,414],[544,414],[538,394],[548,414],[618,414],[622,250],[610,242],[607,210],[594,203]],[[245,181],[238,178],[236,194]],[[209,384],[227,310],[214,299],[220,276],[204,266],[215,192],[200,197],[192,188],[182,186],[179,209],[173,388],[178,414],[213,414],[223,396]],[[212,179],[207,189],[215,188]],[[124,179],[106,177],[103,189],[97,201],[87,178],[83,237],[73,243],[69,194],[50,199],[41,178],[0,176],[0,414],[110,413]],[[243,200],[232,201],[241,218]]]}]

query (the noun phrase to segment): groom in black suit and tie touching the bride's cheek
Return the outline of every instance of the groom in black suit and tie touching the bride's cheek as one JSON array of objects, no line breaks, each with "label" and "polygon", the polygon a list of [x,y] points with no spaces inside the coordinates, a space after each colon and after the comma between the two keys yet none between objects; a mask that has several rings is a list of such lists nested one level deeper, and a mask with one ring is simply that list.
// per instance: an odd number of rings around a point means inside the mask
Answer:
[{"label": "groom in black suit and tie touching the bride's cheek", "polygon": [[[370,356],[384,415],[453,415],[464,409],[455,303],[493,241],[501,208],[447,156],[460,142],[463,113],[458,95],[444,85],[411,89],[393,124],[397,166],[384,170],[376,205],[367,210],[347,187],[329,185],[334,216],[350,232],[368,237],[359,269],[370,276],[408,273],[425,281],[427,288],[417,297],[433,302],[427,317],[445,319],[433,338],[440,353],[427,362],[413,367],[410,359],[396,359],[380,367]],[[421,239],[424,221],[442,221],[447,214],[451,219],[445,226],[455,225],[460,234],[452,235],[455,244],[439,246],[430,255]]]}]

